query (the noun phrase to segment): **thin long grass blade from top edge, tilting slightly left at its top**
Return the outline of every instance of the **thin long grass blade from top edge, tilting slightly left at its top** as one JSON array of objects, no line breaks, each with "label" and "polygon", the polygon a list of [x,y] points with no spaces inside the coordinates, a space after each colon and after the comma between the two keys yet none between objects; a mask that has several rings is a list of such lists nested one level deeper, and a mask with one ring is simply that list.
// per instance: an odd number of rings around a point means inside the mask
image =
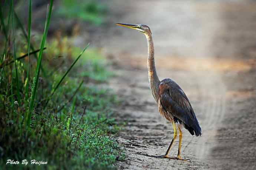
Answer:
[{"label": "thin long grass blade from top edge, tilting slightly left at its top", "polygon": [[18,70],[17,70],[17,62],[16,62],[16,51],[15,51],[15,34],[14,34],[14,9],[13,9],[13,0],[11,1],[11,7],[12,7],[12,32],[13,32],[13,58],[14,58],[14,64],[15,64],[15,74],[16,74],[16,85],[17,85],[17,98],[19,105],[20,102],[20,83],[19,83],[19,76],[18,76]]}]

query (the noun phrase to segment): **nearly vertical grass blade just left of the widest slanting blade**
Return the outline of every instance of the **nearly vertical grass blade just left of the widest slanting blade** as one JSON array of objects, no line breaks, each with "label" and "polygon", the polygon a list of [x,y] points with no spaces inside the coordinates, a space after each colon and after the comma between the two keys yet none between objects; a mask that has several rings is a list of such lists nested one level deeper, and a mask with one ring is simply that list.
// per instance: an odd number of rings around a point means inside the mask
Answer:
[{"label": "nearly vertical grass blade just left of the widest slanting blade", "polygon": [[27,86],[26,86],[26,101],[29,98],[29,68],[30,68],[30,59],[29,59],[29,52],[30,52],[30,30],[31,30],[31,0],[29,0],[29,20],[27,22]]}]

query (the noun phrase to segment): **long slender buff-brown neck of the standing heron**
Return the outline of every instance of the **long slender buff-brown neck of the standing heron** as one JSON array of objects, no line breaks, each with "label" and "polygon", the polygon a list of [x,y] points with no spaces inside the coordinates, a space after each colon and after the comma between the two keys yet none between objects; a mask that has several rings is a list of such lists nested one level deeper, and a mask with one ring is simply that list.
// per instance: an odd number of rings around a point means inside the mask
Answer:
[{"label": "long slender buff-brown neck of the standing heron", "polygon": [[157,70],[155,68],[155,58],[154,58],[154,43],[151,34],[146,34],[148,42],[148,80],[150,84],[150,89],[155,101],[158,103],[158,88],[159,88],[159,78],[157,76]]}]

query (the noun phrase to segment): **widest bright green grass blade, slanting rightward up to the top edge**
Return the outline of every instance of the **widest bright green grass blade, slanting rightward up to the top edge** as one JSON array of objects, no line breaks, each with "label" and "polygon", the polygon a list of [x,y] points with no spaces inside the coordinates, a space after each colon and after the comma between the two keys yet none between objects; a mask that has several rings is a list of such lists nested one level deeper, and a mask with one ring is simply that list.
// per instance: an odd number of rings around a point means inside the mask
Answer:
[{"label": "widest bright green grass blade, slanting rightward up to the top edge", "polygon": [[27,127],[29,127],[29,125],[30,125],[31,112],[34,109],[35,98],[36,98],[36,90],[37,90],[40,67],[41,67],[42,56],[43,56],[43,48],[45,47],[45,40],[46,40],[46,36],[47,36],[49,24],[50,24],[50,18],[51,18],[51,14],[52,14],[52,5],[53,5],[53,0],[50,0],[50,8],[49,8],[49,11],[48,11],[48,14],[47,14],[45,30],[44,30],[44,33],[43,33],[43,38],[42,38],[42,41],[41,41],[40,51],[39,51],[38,60],[37,60],[35,88],[32,89],[32,94],[31,94],[30,103],[29,103],[29,113],[27,115],[27,122],[26,122]]}]

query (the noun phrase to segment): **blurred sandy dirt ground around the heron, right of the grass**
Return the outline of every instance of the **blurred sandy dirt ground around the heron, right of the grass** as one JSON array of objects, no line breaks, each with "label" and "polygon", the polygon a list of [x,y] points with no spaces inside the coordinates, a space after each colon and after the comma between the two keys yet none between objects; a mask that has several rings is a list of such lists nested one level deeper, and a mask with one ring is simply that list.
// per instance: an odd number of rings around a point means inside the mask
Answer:
[{"label": "blurred sandy dirt ground around the heron, right of the grass", "polygon": [[[256,169],[256,3],[242,2],[112,1],[112,23],[94,39],[115,64],[110,86],[125,99],[118,169]],[[164,154],[173,129],[148,87],[144,35],[116,22],[150,26],[158,76],[190,99],[202,128],[201,137],[184,130],[181,156],[191,162],[144,155]]]}]

